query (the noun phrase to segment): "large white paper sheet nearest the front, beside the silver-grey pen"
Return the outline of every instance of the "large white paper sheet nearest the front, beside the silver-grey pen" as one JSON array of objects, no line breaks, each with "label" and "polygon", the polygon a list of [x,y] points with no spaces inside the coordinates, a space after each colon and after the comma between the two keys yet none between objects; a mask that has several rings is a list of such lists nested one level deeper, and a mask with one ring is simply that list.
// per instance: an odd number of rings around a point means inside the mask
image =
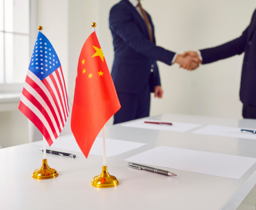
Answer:
[{"label": "large white paper sheet nearest the front, beside the silver-grey pen", "polygon": [[[142,165],[162,166],[232,179],[240,179],[256,162],[256,158],[252,157],[187,150],[167,146],[158,146],[157,148],[134,155],[125,160]],[[177,176],[179,176],[179,174],[177,174]]]}]

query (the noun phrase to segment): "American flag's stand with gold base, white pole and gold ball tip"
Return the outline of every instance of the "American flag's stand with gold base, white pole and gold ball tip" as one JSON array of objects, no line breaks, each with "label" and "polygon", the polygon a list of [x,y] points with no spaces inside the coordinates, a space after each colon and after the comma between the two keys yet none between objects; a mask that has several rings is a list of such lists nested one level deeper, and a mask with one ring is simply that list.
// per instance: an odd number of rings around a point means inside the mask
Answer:
[{"label": "American flag's stand with gold base, white pole and gold ball tip", "polygon": [[[38,26],[38,30],[41,31],[43,30],[42,26]],[[33,172],[32,177],[34,179],[52,179],[57,177],[59,174],[54,168],[50,168],[47,164],[47,159],[46,159],[46,139],[43,136],[43,164],[41,168],[36,169]]]}]

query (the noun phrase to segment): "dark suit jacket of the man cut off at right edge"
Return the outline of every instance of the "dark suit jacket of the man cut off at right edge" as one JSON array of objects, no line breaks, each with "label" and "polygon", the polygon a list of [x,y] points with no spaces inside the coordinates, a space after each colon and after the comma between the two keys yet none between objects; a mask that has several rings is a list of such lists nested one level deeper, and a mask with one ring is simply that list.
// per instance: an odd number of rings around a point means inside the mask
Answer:
[{"label": "dark suit jacket of the man cut off at right edge", "polygon": [[256,10],[250,25],[243,31],[242,36],[223,45],[200,50],[203,64],[243,52],[244,61],[241,75],[240,100],[243,104],[256,106]]}]

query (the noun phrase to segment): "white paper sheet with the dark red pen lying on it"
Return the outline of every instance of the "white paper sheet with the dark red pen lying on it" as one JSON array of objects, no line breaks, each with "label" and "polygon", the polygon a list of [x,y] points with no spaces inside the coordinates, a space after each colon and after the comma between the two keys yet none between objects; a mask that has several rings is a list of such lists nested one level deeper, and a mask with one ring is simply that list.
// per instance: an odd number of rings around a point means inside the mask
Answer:
[{"label": "white paper sheet with the dark red pen lying on it", "polygon": [[[144,123],[145,121],[148,122],[166,122],[172,123],[172,125],[157,125],[157,124],[150,124]],[[168,131],[176,131],[176,132],[185,132],[191,130],[193,128],[201,126],[200,124],[192,124],[192,123],[177,123],[177,122],[170,122],[170,121],[159,121],[159,120],[138,120],[135,122],[125,123],[121,126],[125,127],[132,127],[132,128],[146,128],[146,129],[154,129],[154,130],[168,130]]]}]

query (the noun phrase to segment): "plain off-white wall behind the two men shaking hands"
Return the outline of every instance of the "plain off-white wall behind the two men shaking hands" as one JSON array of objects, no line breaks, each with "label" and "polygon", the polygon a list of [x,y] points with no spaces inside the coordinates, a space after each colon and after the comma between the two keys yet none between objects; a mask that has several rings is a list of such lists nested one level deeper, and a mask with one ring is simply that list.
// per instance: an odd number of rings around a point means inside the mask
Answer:
[{"label": "plain off-white wall behind the two men shaking hands", "polygon": [[[113,61],[109,10],[117,0],[99,0],[99,40],[109,69]],[[246,3],[245,3],[246,2]],[[144,0],[156,40],[174,52],[212,47],[240,36],[256,7],[253,0]],[[193,72],[158,62],[163,99],[151,101],[150,115],[168,113],[241,118],[239,86],[243,55],[201,66]]]}]

